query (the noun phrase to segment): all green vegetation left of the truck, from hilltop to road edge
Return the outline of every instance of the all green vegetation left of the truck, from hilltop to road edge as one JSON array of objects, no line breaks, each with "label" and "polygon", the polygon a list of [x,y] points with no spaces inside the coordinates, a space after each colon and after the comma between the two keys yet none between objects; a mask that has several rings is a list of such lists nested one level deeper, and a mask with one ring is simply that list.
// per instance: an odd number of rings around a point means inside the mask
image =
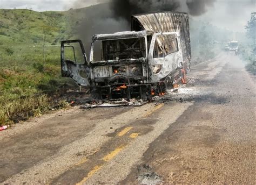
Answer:
[{"label": "all green vegetation left of the truck, from hilltop to road edge", "polygon": [[0,125],[68,105],[52,96],[67,83],[60,77],[59,43],[73,37],[71,17],[0,10]]}]

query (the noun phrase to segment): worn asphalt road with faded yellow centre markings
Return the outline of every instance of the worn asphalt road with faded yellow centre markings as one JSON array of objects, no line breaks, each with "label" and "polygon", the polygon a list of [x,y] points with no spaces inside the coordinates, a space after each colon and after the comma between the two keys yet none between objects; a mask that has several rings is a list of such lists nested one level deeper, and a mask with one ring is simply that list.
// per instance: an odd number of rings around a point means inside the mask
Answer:
[{"label": "worn asphalt road with faded yellow centre markings", "polygon": [[18,124],[0,133],[0,184],[255,184],[255,92],[238,56],[220,54],[172,101]]}]

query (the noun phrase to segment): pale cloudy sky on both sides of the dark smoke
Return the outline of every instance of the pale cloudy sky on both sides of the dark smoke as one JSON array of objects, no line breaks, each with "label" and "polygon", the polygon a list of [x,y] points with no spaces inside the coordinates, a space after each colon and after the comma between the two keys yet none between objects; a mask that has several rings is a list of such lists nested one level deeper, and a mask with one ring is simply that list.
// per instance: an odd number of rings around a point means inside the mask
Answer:
[{"label": "pale cloudy sky on both sides of the dark smoke", "polygon": [[[25,9],[32,8],[35,11],[63,11],[76,7],[78,0],[0,0],[0,9]],[[83,6],[90,6],[110,0],[80,0]],[[122,1],[122,0],[120,0]],[[185,0],[184,0],[185,1]],[[207,0],[205,0],[207,1]],[[193,17],[197,20],[210,22],[213,25],[243,32],[251,12],[256,11],[256,0],[215,0],[212,7],[208,7],[203,16]]]}]

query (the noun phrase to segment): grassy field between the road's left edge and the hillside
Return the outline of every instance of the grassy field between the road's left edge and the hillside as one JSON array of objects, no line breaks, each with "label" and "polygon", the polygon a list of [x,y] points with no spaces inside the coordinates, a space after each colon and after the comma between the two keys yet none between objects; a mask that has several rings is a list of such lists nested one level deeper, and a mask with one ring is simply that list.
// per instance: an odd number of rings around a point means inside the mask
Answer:
[{"label": "grassy field between the road's left edge and the hillside", "polygon": [[56,95],[58,88],[65,83],[65,79],[60,77],[59,54],[56,55],[59,49],[48,47],[51,52],[47,55],[46,70],[43,71],[42,52],[37,48],[13,48],[12,55],[1,51],[0,125],[40,116],[51,109],[66,108],[66,103],[60,99],[53,101],[49,96]]}]

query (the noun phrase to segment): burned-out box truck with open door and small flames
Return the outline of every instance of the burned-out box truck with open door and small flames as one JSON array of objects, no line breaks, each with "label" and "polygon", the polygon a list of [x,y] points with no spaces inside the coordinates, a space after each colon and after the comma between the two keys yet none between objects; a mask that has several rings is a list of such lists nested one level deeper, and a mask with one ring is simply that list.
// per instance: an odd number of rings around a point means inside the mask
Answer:
[{"label": "burned-out box truck with open door and small flames", "polygon": [[62,41],[62,76],[90,87],[99,99],[151,99],[190,70],[187,13],[132,16],[131,31],[97,34],[87,59],[81,40]]}]

